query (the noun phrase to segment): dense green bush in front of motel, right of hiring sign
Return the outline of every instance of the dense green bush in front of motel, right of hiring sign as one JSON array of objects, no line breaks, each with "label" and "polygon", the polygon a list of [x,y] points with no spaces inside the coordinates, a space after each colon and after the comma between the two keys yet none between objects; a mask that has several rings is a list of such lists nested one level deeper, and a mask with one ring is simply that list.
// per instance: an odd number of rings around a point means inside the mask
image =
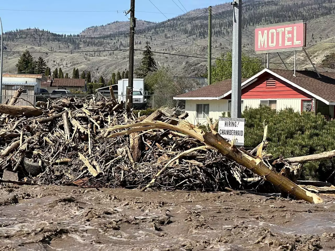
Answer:
[{"label": "dense green bush in front of motel, right of hiring sign", "polygon": [[[284,158],[335,150],[335,121],[311,112],[299,114],[292,109],[271,110],[268,106],[246,108],[245,146],[256,147],[263,139],[263,122],[268,125],[266,151]],[[302,178],[325,181],[334,170],[333,160],[305,163]]]}]

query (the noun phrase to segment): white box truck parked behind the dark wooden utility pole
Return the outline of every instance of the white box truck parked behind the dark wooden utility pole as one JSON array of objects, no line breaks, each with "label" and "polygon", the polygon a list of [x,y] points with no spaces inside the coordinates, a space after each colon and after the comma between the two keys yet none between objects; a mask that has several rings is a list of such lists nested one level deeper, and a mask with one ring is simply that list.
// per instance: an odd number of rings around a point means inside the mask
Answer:
[{"label": "white box truck parked behind the dark wooden utility pole", "polygon": [[[120,79],[118,81],[118,100],[127,101],[127,87],[128,79]],[[148,95],[147,91],[144,91],[144,79],[134,78],[133,81],[133,104],[146,104],[147,100],[145,96]]]}]

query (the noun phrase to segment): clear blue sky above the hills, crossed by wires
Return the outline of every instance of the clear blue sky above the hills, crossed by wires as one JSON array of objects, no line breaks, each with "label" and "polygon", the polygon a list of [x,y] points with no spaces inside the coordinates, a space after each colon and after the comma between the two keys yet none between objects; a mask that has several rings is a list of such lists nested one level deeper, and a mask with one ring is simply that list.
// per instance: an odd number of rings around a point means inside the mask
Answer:
[{"label": "clear blue sky above the hills, crossed by wires", "polygon": [[[180,2],[186,10],[203,8],[208,5],[216,5],[226,1],[219,0],[173,0],[183,10]],[[182,10],[172,0],[151,0],[153,4],[166,17],[171,18],[175,14],[183,14]],[[86,27],[92,25],[101,25],[116,20],[128,20],[122,12],[130,7],[130,0],[58,0],[58,1],[41,1],[41,0],[13,0],[1,1],[0,17],[4,31],[25,29],[28,27],[38,27],[47,29],[56,33],[78,33]],[[32,4],[34,3],[34,4]],[[166,18],[161,13],[143,13],[136,11],[159,12],[149,0],[135,1],[135,17],[147,21],[159,22]],[[49,6],[47,6],[47,4]],[[46,11],[90,11],[90,12],[50,12]],[[19,11],[34,10],[34,11]],[[41,11],[36,11],[41,10]],[[100,12],[93,12],[100,11]],[[104,11],[104,12],[103,12]],[[107,12],[115,11],[115,12]],[[119,13],[116,11],[120,11]],[[185,11],[185,10],[184,10]],[[128,15],[129,17],[129,15]]]}]

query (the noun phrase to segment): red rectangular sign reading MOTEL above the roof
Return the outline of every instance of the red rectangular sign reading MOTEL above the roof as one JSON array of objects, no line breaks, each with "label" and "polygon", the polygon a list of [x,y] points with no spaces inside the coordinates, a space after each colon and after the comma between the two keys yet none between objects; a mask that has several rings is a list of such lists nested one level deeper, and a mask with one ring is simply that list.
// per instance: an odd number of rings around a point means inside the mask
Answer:
[{"label": "red rectangular sign reading MOTEL above the roof", "polygon": [[255,52],[301,50],[306,46],[306,23],[274,24],[255,28]]}]

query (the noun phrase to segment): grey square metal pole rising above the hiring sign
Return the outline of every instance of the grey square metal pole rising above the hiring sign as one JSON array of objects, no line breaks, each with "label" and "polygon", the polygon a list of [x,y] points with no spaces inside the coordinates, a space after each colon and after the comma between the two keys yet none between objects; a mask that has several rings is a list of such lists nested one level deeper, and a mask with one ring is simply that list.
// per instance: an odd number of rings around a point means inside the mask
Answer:
[{"label": "grey square metal pole rising above the hiring sign", "polygon": [[231,117],[241,117],[242,0],[235,0],[232,22]]}]

